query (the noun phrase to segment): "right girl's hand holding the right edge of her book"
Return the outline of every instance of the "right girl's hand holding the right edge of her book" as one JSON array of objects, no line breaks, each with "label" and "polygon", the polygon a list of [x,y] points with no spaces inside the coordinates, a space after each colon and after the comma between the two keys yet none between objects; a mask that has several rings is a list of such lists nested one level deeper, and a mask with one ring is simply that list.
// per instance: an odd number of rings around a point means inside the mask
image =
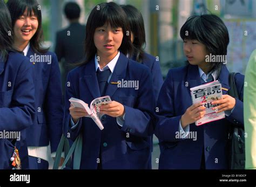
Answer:
[{"label": "right girl's hand holding the right edge of her book", "polygon": [[223,95],[222,99],[212,102],[212,105],[216,104],[220,104],[219,106],[212,108],[217,111],[216,113],[220,113],[225,110],[232,110],[235,106],[235,99],[230,95]]}]

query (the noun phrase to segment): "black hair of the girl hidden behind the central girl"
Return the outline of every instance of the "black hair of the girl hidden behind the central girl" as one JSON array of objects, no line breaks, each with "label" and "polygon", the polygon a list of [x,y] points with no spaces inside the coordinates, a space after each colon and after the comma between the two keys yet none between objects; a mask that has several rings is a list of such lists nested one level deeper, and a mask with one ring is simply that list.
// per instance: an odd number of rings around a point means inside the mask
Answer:
[{"label": "black hair of the girl hidden behind the central girl", "polygon": [[145,56],[143,47],[146,45],[145,27],[142,13],[132,5],[121,5],[127,15],[131,31],[134,35],[134,56],[136,61],[142,62]]}]

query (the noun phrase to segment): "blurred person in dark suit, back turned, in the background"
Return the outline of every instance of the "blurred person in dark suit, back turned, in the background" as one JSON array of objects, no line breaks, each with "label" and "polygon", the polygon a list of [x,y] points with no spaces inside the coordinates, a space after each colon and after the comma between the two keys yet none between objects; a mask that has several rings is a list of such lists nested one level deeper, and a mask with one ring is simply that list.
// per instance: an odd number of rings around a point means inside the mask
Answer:
[{"label": "blurred person in dark suit, back turned, in the background", "polygon": [[62,88],[65,89],[65,82],[68,72],[84,56],[85,25],[79,23],[80,8],[75,2],[65,4],[64,13],[70,25],[56,34],[55,53],[58,61],[62,62],[64,72],[62,73]]}]

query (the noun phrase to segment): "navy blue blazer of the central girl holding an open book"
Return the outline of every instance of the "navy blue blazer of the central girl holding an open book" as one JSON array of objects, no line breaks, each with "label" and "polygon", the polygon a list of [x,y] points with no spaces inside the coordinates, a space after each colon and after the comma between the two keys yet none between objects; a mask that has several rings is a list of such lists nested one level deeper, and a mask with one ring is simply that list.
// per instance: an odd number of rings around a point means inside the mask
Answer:
[{"label": "navy blue blazer of the central girl holding an open book", "polygon": [[119,88],[111,84],[105,95],[125,107],[125,121],[121,128],[116,117],[104,115],[104,129],[100,130],[89,117],[82,117],[76,129],[70,128],[71,97],[89,103],[100,96],[92,59],[86,65],[72,70],[68,75],[70,86],[66,86],[64,110],[64,135],[75,140],[79,133],[83,135],[82,161],[80,169],[97,169],[99,151],[103,169],[150,169],[151,136],[154,131],[153,110],[155,107],[150,70],[145,65],[127,59],[120,53],[110,82],[118,80],[138,80],[139,89]]}]

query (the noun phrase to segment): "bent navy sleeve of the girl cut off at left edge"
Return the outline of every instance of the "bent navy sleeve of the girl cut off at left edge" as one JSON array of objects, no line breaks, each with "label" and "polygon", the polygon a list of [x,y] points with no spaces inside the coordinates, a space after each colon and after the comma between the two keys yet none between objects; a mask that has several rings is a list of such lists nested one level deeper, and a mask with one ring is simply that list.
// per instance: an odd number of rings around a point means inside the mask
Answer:
[{"label": "bent navy sleeve of the girl cut off at left edge", "polygon": [[0,131],[20,131],[33,124],[35,119],[35,86],[31,63],[25,59],[19,66],[11,105],[0,108]]}]

